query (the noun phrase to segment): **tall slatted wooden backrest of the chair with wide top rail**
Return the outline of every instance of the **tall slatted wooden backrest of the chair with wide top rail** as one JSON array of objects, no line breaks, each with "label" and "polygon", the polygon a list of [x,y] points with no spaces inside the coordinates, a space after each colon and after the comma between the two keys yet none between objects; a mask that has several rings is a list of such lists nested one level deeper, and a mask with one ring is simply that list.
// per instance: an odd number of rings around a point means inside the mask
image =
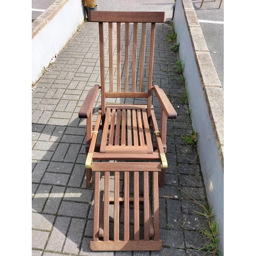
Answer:
[{"label": "tall slatted wooden backrest of the chair with wide top rail", "polygon": [[165,12],[89,11],[89,19],[99,23],[102,115],[106,98],[146,98],[150,111],[155,28]]}]

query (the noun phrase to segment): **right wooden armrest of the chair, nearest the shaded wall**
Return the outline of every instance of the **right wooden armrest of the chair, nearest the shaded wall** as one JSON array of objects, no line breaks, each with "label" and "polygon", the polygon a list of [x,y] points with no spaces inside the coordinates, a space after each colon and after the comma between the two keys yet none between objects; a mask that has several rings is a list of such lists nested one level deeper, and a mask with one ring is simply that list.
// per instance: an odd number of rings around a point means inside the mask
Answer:
[{"label": "right wooden armrest of the chair, nearest the shaded wall", "polygon": [[154,86],[153,87],[156,96],[162,106],[162,109],[164,110],[164,113],[166,115],[166,117],[169,118],[176,118],[177,117],[177,113],[172,105],[172,103],[170,103],[169,99],[167,98],[165,92],[159,88],[159,86]]}]

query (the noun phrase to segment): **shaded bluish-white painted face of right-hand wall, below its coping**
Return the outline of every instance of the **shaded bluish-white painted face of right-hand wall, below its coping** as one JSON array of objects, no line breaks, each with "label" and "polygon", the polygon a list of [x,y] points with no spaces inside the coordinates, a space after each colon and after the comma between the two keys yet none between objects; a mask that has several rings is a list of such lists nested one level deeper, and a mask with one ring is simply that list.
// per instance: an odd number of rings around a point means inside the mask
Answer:
[{"label": "shaded bluish-white painted face of right-hand wall, below its coping", "polygon": [[179,54],[184,61],[183,75],[187,82],[188,102],[193,129],[198,132],[197,149],[204,178],[207,199],[214,208],[215,220],[219,221],[220,246],[224,253],[224,174],[214,131],[200,81],[194,51],[191,45],[181,0],[176,1],[174,15]]}]

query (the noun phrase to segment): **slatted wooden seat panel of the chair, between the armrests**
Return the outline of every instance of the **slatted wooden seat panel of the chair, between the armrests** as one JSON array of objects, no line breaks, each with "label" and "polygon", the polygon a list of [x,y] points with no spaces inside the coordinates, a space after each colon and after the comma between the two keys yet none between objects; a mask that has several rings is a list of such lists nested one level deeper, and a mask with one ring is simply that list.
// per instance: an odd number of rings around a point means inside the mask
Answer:
[{"label": "slatted wooden seat panel of the chair, between the armrests", "polygon": [[153,154],[146,105],[106,108],[100,153]]}]

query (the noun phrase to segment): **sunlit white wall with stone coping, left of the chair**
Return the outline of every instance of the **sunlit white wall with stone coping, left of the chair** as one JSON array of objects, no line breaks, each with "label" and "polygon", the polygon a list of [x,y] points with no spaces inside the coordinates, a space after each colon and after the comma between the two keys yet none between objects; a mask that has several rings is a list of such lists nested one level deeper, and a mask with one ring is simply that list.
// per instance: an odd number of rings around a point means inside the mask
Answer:
[{"label": "sunlit white wall with stone coping, left of the chair", "polygon": [[81,0],[57,0],[32,23],[32,83],[83,22]]}]

